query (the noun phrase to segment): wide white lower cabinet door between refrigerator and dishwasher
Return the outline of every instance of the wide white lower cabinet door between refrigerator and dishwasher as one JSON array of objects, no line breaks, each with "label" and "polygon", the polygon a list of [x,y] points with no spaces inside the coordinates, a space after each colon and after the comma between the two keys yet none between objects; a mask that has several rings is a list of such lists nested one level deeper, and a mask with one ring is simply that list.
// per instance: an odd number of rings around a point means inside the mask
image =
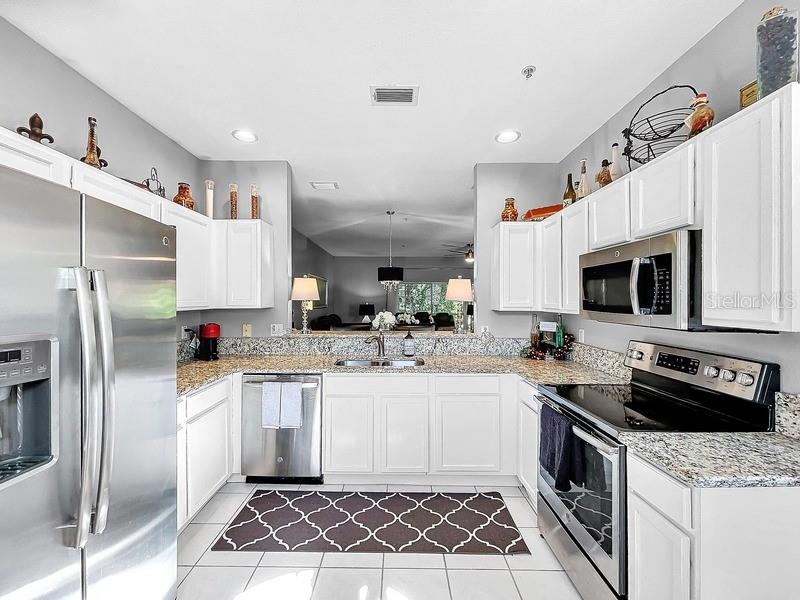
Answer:
[{"label": "wide white lower cabinet door between refrigerator and dishwasher", "polygon": [[230,405],[226,399],[186,424],[186,487],[193,516],[228,480]]}]

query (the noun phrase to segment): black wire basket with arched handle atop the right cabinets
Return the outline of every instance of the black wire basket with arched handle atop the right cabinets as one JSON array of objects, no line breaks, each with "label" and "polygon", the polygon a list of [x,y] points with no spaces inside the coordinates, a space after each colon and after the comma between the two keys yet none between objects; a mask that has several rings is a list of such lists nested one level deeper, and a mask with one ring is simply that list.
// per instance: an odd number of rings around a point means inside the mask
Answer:
[{"label": "black wire basket with arched handle atop the right cabinets", "polygon": [[[639,117],[648,104],[665,94],[673,92],[673,90],[680,89],[692,92],[692,98],[689,102],[686,102],[685,107],[670,108],[652,115]],[[628,159],[628,169],[631,168],[632,162],[643,165],[688,139],[689,130],[681,131],[685,129],[684,121],[694,111],[689,105],[695,96],[697,96],[697,90],[691,85],[673,85],[652,96],[636,110],[627,129],[622,131],[622,135],[625,137],[625,149],[622,154]],[[634,145],[638,142],[642,143]]]}]

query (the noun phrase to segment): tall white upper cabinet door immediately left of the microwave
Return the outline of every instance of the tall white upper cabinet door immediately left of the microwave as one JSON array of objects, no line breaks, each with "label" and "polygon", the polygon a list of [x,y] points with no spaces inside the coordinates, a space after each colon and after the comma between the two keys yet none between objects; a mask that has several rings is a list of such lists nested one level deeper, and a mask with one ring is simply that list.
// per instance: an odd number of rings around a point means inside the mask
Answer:
[{"label": "tall white upper cabinet door immediately left of the microwave", "polygon": [[578,313],[581,293],[578,260],[589,250],[588,224],[586,202],[573,204],[561,212],[561,312]]}]

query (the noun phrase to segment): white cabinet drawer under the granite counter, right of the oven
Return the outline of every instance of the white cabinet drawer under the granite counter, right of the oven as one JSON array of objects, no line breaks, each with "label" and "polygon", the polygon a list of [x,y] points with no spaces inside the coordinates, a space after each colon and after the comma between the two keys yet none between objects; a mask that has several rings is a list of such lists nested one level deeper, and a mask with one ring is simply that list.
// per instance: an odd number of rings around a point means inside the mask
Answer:
[{"label": "white cabinet drawer under the granite counter, right of the oven", "polygon": [[688,486],[629,454],[628,487],[682,527],[692,528],[692,490]]}]

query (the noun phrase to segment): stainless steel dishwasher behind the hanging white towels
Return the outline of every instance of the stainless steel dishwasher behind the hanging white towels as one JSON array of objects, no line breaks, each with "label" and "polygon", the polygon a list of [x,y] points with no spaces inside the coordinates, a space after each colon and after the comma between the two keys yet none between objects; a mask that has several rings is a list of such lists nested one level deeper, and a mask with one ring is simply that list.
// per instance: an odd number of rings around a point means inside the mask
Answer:
[{"label": "stainless steel dishwasher behind the hanging white towels", "polygon": [[[299,382],[302,425],[261,426],[261,389],[267,382]],[[242,378],[242,475],[250,482],[278,479],[322,482],[322,376],[248,374]]]}]

